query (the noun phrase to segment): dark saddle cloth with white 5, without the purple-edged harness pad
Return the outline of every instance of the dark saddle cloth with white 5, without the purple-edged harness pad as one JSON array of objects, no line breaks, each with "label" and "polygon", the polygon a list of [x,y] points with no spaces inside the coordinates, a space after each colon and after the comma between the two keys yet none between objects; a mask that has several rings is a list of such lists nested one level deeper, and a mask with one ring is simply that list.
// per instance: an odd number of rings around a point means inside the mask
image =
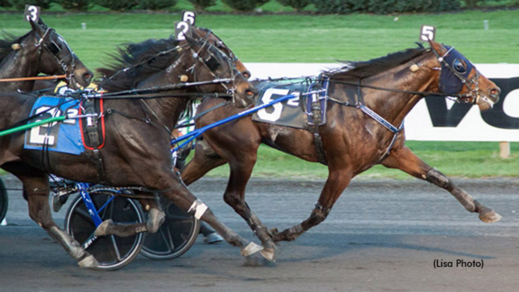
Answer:
[{"label": "dark saddle cloth with white 5, without the purple-edged harness pad", "polygon": [[[307,100],[311,104],[311,96],[300,98],[299,94],[306,93],[311,90],[311,83],[308,79],[294,79],[286,81],[255,81],[253,82],[256,89],[260,92],[256,97],[256,105],[269,103],[277,98],[285,95],[294,94],[295,98],[291,98],[272,105],[271,107],[257,111],[252,115],[252,120],[256,122],[270,123],[280,126],[293,127],[298,129],[306,129],[308,122],[308,112],[305,109],[310,107],[307,104],[301,104],[301,100]],[[321,114],[325,116],[325,114]]]}]

